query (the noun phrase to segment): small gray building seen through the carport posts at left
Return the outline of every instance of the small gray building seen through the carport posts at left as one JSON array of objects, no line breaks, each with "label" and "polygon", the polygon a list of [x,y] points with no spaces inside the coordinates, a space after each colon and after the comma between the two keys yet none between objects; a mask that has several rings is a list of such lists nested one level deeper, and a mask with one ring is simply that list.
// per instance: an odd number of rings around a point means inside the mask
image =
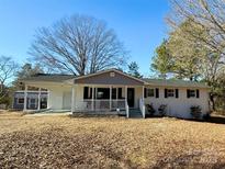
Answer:
[{"label": "small gray building seen through the carport posts at left", "polygon": [[[47,91],[29,91],[26,94],[27,110],[47,109]],[[24,110],[24,91],[15,91],[12,108],[15,110]]]}]

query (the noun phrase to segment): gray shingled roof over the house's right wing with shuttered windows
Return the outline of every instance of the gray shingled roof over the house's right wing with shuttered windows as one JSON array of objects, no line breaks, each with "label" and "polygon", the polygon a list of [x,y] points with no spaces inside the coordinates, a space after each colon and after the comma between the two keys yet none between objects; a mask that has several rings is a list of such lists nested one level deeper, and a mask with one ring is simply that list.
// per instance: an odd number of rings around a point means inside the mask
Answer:
[{"label": "gray shingled roof over the house's right wing with shuttered windows", "polygon": [[189,87],[189,88],[209,88],[204,82],[175,80],[175,79],[143,79],[145,82],[159,87]]}]

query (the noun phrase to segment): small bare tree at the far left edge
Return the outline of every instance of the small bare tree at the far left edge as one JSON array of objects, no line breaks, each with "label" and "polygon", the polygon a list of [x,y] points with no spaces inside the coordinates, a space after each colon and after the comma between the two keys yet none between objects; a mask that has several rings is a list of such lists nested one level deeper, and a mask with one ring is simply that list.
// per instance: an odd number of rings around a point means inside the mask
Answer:
[{"label": "small bare tree at the far left edge", "polygon": [[8,94],[7,86],[18,71],[18,64],[11,57],[0,57],[0,99]]}]

